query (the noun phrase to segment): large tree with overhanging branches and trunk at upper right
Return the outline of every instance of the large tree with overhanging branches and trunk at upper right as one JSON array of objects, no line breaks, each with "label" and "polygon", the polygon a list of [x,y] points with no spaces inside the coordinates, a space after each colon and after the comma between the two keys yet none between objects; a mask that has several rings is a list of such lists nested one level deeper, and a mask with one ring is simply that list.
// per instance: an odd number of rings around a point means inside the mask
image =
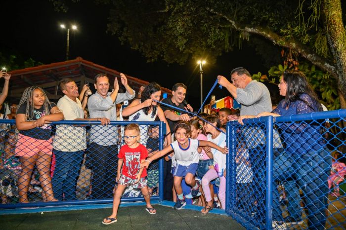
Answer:
[{"label": "large tree with overhanging branches and trunk at upper right", "polygon": [[[64,0],[50,1],[58,2],[60,10],[67,5]],[[327,73],[327,78],[337,81],[342,107],[346,108],[346,16],[342,15],[345,5],[341,0],[95,2],[110,6],[108,32],[139,50],[148,62],[184,64],[201,56],[215,62],[217,56],[241,47],[246,40],[265,60],[270,59],[273,48],[275,52],[282,49],[285,63],[275,65],[299,68],[301,62],[308,61]]]}]

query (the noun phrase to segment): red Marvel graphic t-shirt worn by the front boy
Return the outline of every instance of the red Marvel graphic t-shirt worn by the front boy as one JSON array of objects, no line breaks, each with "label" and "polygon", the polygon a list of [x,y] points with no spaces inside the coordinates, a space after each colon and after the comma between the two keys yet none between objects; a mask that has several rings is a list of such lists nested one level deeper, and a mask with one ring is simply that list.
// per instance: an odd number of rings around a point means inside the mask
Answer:
[{"label": "red Marvel graphic t-shirt worn by the front boy", "polygon": [[[128,145],[123,145],[120,148],[119,159],[123,158],[123,169],[122,174],[130,177],[132,179],[136,179],[136,175],[140,169],[140,161],[145,160],[148,157],[148,151],[145,146],[139,144],[137,148],[131,149]],[[147,169],[144,168],[142,175],[140,177],[147,176]]]}]

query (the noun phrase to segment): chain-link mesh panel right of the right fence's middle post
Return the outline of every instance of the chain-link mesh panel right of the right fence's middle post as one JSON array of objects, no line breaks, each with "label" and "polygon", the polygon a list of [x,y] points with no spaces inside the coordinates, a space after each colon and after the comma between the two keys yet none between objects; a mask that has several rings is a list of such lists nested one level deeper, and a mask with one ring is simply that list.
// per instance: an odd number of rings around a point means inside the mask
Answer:
[{"label": "chain-link mesh panel right of the right fence's middle post", "polygon": [[283,145],[273,157],[276,228],[345,229],[343,122],[345,117],[275,122]]}]

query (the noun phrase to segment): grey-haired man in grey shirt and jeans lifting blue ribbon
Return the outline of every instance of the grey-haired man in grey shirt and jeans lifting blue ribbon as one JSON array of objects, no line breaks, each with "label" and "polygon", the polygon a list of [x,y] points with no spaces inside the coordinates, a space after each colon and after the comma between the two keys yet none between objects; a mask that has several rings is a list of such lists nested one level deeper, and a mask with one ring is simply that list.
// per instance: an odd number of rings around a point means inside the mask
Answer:
[{"label": "grey-haired man in grey shirt and jeans lifting blue ribbon", "polygon": [[[245,118],[253,118],[262,112],[271,112],[271,100],[270,93],[267,87],[256,80],[252,80],[250,73],[243,67],[235,68],[231,71],[231,84],[225,77],[217,76],[217,81],[220,85],[227,88],[227,90],[232,94],[232,96],[242,105],[240,109],[240,117],[239,123],[243,123],[243,119]],[[274,130],[274,143],[273,143],[273,151],[274,151],[274,183],[273,188],[276,187],[276,180],[281,176],[282,172],[286,171],[285,161],[282,161],[284,153],[282,153],[282,143],[279,137],[279,134],[276,130]],[[246,145],[249,149],[250,159],[252,162],[253,170],[255,173],[254,185],[259,188],[265,185],[265,174],[264,174],[264,165],[265,165],[265,154],[264,154],[264,145],[265,145],[265,135],[262,128],[258,125],[254,126],[246,126],[242,128],[242,136],[246,137]],[[280,165],[280,166],[278,166]],[[286,190],[291,193],[291,188],[287,188]],[[261,188],[257,197],[261,197],[264,199],[265,188]],[[277,190],[274,191],[277,193]],[[286,191],[287,192],[287,191]],[[278,203],[278,197],[274,195],[274,203]],[[276,214],[279,213],[279,205],[273,205],[278,210],[275,210]],[[290,209],[290,208],[289,208]],[[264,203],[259,202],[257,207],[257,212],[260,220],[264,219]],[[273,211],[274,212],[274,211]],[[273,219],[276,219],[273,217]]]}]

